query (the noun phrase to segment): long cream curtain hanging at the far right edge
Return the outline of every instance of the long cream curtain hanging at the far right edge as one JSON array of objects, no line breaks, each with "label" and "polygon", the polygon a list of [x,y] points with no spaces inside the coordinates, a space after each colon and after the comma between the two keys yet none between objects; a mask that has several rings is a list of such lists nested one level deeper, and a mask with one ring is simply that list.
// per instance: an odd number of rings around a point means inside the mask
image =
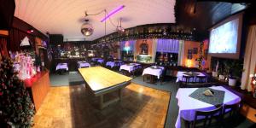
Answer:
[{"label": "long cream curtain hanging at the far right edge", "polygon": [[254,73],[256,66],[256,25],[250,26],[247,35],[247,44],[245,49],[243,69],[241,76],[241,90],[252,91],[251,78],[249,75]]}]

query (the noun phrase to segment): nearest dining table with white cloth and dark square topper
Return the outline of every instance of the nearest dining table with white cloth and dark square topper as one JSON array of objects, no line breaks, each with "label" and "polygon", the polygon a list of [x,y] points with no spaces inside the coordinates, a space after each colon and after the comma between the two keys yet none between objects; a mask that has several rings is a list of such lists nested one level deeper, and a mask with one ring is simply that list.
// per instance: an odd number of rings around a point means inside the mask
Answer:
[{"label": "nearest dining table with white cloth and dark square topper", "polygon": [[[206,90],[213,91],[213,96],[206,96]],[[209,111],[217,108],[218,105],[235,104],[241,102],[241,97],[237,96],[224,86],[212,86],[209,88],[179,88],[177,90],[178,115],[175,127],[181,127],[182,118],[193,121],[195,111]]]}]

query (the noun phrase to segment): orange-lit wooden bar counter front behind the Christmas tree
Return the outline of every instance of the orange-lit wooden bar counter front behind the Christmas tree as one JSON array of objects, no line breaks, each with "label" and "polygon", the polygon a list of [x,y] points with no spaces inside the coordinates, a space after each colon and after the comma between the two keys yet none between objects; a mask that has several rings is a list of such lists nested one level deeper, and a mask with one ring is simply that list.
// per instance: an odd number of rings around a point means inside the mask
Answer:
[{"label": "orange-lit wooden bar counter front behind the Christmas tree", "polygon": [[49,91],[49,71],[43,71],[37,73],[31,79],[25,79],[24,84],[34,103],[35,110],[38,111],[42,102],[44,102],[44,97]]}]

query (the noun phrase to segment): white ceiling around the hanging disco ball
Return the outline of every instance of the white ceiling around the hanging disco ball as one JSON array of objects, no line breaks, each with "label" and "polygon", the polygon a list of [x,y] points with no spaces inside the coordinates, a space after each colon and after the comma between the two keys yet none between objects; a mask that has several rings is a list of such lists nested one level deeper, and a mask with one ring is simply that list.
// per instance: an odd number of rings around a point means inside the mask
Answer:
[{"label": "white ceiling around the hanging disco ball", "polygon": [[[122,18],[125,28],[154,24],[175,23],[175,0],[15,0],[15,16],[34,26],[41,32],[62,34],[64,40],[84,40],[80,32],[84,23],[84,12],[96,14],[103,9],[108,13],[120,5],[125,8],[107,20],[107,34],[115,32],[115,27]],[[85,40],[94,40],[104,36],[104,13],[90,15],[86,19],[94,27],[94,33]]]}]

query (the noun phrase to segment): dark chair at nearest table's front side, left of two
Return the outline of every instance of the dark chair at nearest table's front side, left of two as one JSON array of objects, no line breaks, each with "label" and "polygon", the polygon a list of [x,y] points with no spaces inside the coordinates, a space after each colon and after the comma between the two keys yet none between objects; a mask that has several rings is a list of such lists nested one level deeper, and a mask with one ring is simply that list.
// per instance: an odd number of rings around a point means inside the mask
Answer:
[{"label": "dark chair at nearest table's front side, left of two", "polygon": [[[217,119],[217,123],[220,123],[222,119],[222,110],[223,106],[219,106],[216,109],[210,111],[195,111],[195,118],[192,122],[192,128],[195,128],[200,124],[203,123],[202,127],[209,127],[212,125],[212,119]],[[198,119],[199,117],[205,117],[204,119]]]}]

